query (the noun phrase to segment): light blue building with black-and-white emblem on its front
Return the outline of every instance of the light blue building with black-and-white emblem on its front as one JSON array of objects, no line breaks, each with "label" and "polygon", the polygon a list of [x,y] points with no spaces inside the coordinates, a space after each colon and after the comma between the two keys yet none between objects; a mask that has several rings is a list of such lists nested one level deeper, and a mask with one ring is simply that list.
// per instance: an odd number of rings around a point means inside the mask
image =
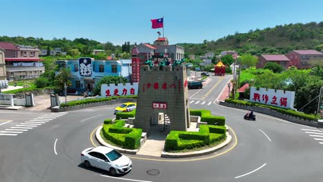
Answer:
[{"label": "light blue building with black-and-white emblem on its front", "polygon": [[[72,85],[68,88],[69,94],[81,94],[84,90],[92,91],[97,81],[106,76],[125,77],[130,82],[132,68],[131,59],[94,60],[81,57],[79,60],[56,61],[59,68],[69,68]],[[56,72],[58,74],[59,72]]]}]

